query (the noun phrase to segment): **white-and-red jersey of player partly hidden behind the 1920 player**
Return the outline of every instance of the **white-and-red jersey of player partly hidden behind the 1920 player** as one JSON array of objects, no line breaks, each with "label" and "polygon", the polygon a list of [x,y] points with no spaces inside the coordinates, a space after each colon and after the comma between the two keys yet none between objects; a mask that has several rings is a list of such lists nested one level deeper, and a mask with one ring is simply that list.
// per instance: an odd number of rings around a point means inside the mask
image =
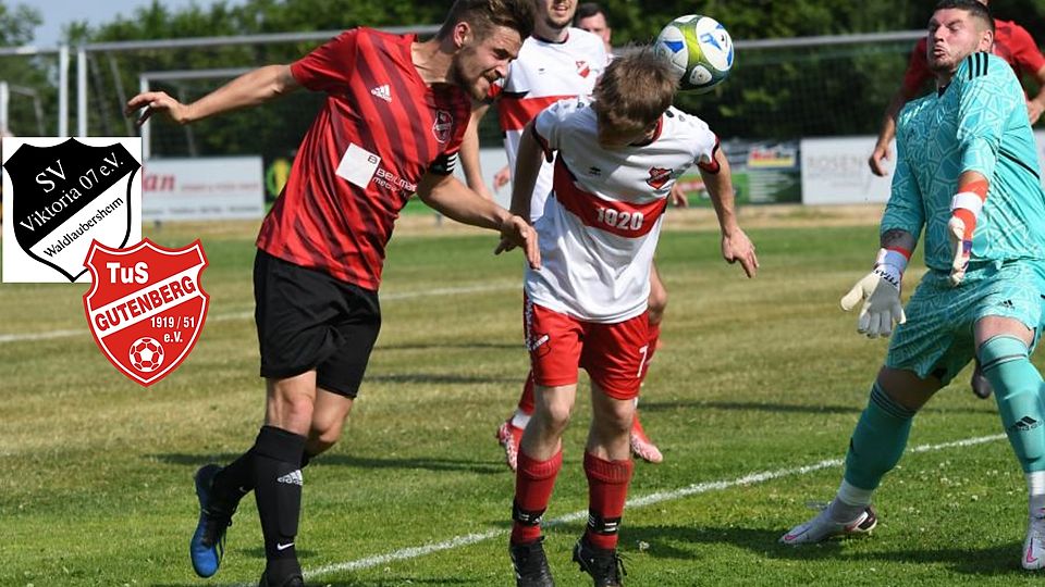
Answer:
[{"label": "white-and-red jersey of player partly hidden behind the 1920 player", "polygon": [[[527,123],[560,100],[591,95],[606,63],[602,39],[580,28],[567,29],[563,42],[550,42],[537,37],[526,39],[518,59],[508,67],[508,75],[490,90],[491,97],[497,99],[509,168],[515,170],[519,137]],[[533,187],[531,220],[540,217],[551,189],[552,165],[546,163]]]}]

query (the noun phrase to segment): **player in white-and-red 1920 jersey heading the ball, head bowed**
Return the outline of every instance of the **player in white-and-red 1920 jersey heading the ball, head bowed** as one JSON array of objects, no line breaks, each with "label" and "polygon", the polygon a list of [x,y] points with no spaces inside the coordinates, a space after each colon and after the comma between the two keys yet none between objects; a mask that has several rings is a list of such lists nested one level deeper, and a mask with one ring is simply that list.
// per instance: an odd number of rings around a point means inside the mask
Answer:
[{"label": "player in white-and-red 1920 jersey heading the ball, head bowed", "polygon": [[634,471],[628,437],[652,350],[649,275],[672,184],[693,163],[714,202],[727,260],[749,276],[758,270],[754,247],[737,225],[718,139],[671,107],[676,87],[666,61],[649,48],[631,51],[610,64],[591,99],[551,105],[520,138],[513,212],[532,217],[533,185],[553,160],[554,190],[534,223],[542,267],[525,277],[536,410],[513,501],[509,553],[519,586],[553,585],[540,523],[562,469],[579,367],[591,378],[592,420],[583,459],[588,524],[573,558],[595,586],[622,584],[616,547]]}]

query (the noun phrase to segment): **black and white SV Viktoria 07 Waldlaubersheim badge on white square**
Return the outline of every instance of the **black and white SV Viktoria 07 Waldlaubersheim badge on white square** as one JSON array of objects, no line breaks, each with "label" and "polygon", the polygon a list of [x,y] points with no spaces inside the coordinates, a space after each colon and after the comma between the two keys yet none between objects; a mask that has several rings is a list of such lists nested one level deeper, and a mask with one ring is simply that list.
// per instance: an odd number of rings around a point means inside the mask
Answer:
[{"label": "black and white SV Viktoria 07 Waldlaubersheim badge on white square", "polygon": [[0,148],[3,282],[87,282],[91,241],[142,240],[140,138],[5,137]]}]

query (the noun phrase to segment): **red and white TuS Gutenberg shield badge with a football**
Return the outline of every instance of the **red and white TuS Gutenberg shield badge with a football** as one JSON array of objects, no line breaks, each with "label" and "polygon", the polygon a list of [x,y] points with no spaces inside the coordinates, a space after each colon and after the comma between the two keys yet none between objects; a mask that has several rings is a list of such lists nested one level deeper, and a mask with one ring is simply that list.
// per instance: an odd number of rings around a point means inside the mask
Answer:
[{"label": "red and white TuS Gutenberg shield badge with a football", "polygon": [[96,241],[84,264],[93,282],[84,309],[101,352],[144,386],[170,374],[193,350],[207,317],[210,296],[199,280],[207,257],[199,240],[179,250],[149,239],[126,249]]}]

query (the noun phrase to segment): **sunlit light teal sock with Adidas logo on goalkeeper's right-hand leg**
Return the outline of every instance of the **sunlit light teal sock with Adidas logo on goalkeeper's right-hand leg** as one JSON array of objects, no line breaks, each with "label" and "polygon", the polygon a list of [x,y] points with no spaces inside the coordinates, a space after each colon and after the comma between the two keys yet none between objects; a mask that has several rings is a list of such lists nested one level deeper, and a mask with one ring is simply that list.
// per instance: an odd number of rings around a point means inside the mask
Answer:
[{"label": "sunlit light teal sock with Adidas logo on goalkeeper's right-hand leg", "polygon": [[1045,471],[1045,414],[1042,376],[1028,359],[1026,345],[995,336],[980,345],[980,369],[994,386],[998,415],[1024,473]]}]

